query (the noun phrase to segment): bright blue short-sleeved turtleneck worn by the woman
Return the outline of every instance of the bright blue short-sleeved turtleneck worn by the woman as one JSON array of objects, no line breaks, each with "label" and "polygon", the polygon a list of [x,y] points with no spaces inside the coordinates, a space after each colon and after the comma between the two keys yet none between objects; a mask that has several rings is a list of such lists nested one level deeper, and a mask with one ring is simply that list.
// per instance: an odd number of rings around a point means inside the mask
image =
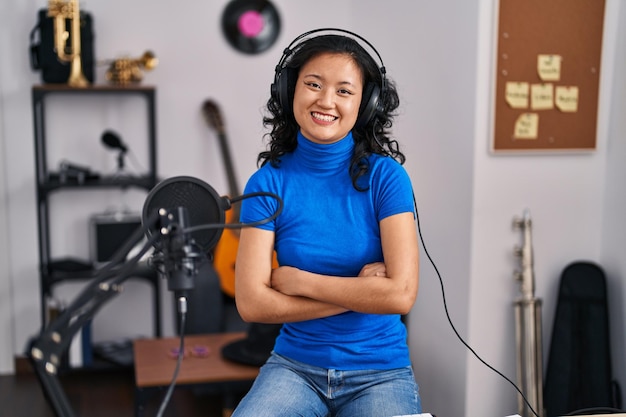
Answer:
[{"label": "bright blue short-sleeved turtleneck worn by the woman", "polygon": [[[368,263],[383,261],[379,222],[414,212],[411,181],[393,158],[372,155],[360,179],[366,191],[352,185],[349,167],[352,134],[332,144],[318,144],[298,134],[298,145],[255,172],[244,193],[271,192],[284,207],[260,227],[275,233],[280,265],[309,272],[356,277]],[[273,215],[272,198],[243,200],[241,221]],[[349,279],[349,278],[346,278]],[[274,351],[326,369],[393,369],[410,365],[406,328],[399,315],[345,312],[283,325]]]}]

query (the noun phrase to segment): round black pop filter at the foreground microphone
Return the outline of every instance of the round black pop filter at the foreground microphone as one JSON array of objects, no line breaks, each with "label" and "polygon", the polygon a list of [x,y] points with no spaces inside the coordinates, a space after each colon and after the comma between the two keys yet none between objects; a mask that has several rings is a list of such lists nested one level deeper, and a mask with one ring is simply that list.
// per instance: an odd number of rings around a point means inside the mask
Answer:
[{"label": "round black pop filter at the foreground microphone", "polygon": [[[143,206],[142,225],[148,239],[160,233],[157,224],[150,224],[149,219],[156,218],[155,212],[165,209],[173,212],[179,207],[187,210],[188,226],[224,224],[225,211],[230,208],[230,201],[220,197],[207,183],[194,177],[172,177],[158,183],[146,197]],[[222,236],[223,228],[206,228],[190,234],[195,244],[204,253],[212,250]],[[156,249],[161,249],[161,241],[155,240]]]}]

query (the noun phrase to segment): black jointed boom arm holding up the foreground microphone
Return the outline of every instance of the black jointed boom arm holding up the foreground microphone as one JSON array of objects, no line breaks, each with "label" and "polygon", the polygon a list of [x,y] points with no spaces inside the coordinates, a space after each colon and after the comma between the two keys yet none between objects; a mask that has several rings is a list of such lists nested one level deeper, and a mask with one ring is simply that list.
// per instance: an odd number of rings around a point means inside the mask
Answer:
[{"label": "black jointed boom arm holding up the foreground microphone", "polygon": [[[159,216],[164,217],[165,210],[154,213],[148,219],[148,225],[157,224]],[[167,214],[167,213],[165,213]],[[169,216],[171,218],[171,216]],[[142,249],[130,260],[124,263],[128,253],[141,241],[144,236],[143,228],[139,227],[124,245],[116,252],[111,262],[96,272],[90,282],[70,305],[30,343],[29,359],[37,378],[43,388],[44,395],[51,404],[57,417],[75,417],[75,413],[65,395],[57,377],[61,365],[61,358],[68,349],[73,337],[91,320],[105,303],[121,293],[121,284],[133,276],[133,270],[139,260],[148,252],[157,239],[165,238],[164,252],[170,250],[171,242],[176,241],[178,232],[182,229],[172,227],[173,233],[162,228],[148,238]],[[175,253],[175,251],[171,251]],[[172,258],[172,256],[169,256]],[[165,272],[171,272],[165,265]],[[171,289],[171,288],[170,288]],[[189,289],[189,287],[187,288]]]}]

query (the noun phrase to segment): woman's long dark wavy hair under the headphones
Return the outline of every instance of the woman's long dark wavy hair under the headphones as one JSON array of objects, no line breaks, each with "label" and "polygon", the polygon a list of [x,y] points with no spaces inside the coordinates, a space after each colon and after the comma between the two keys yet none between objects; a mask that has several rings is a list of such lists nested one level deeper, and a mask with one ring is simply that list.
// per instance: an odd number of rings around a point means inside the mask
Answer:
[{"label": "woman's long dark wavy hair under the headphones", "polygon": [[[391,156],[401,164],[405,161],[405,156],[400,151],[398,142],[390,136],[393,118],[400,104],[398,92],[388,77],[383,79],[376,61],[356,40],[343,35],[321,35],[302,41],[285,61],[283,71],[293,73],[288,78],[290,101],[285,103],[286,105],[293,105],[293,94],[300,68],[312,58],[323,53],[350,56],[361,69],[363,85],[373,82],[381,89],[379,110],[376,111],[375,116],[362,126],[357,124],[352,129],[355,146],[350,163],[350,176],[354,187],[357,190],[363,190],[362,187],[357,186],[357,181],[369,169],[368,156],[381,154]],[[281,76],[283,76],[282,73]],[[363,107],[364,103],[361,104]],[[293,116],[293,111],[285,111],[281,106],[279,97],[275,94],[272,94],[267,102],[267,111],[269,114],[263,118],[263,125],[270,128],[270,132],[265,135],[269,137],[268,150],[259,154],[257,163],[262,166],[269,162],[273,166],[278,166],[282,155],[295,150],[299,126]]]}]

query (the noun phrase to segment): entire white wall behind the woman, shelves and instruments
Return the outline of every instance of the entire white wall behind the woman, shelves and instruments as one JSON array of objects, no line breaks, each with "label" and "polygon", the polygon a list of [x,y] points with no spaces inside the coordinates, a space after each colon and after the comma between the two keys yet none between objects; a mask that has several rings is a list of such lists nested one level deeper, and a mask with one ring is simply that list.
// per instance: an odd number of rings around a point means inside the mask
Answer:
[{"label": "entire white wall behind the woman, shelves and instruments", "polygon": [[[612,17],[605,34],[598,149],[584,155],[551,156],[488,152],[495,0],[318,0],[314,6],[275,0],[283,22],[280,37],[271,49],[254,56],[234,51],[223,39],[219,19],[226,3],[190,0],[176,14],[165,3],[146,0],[84,4],[94,16],[98,59],[139,56],[153,49],[160,60],[154,71],[146,73],[145,83],[158,88],[161,176],[194,175],[218,192],[227,192],[217,138],[200,112],[202,102],[213,98],[222,109],[243,184],[255,170],[262,148],[261,111],[282,49],[312,28],[354,30],[376,46],[400,89],[401,115],[395,133],[408,156],[406,167],[415,186],[421,231],[443,277],[447,306],[459,333],[488,362],[515,377],[512,302],[517,285],[512,279],[516,267],[512,248],[520,236],[511,221],[529,208],[537,296],[545,305],[545,340],[549,340],[560,271],[571,260],[595,259],[611,272],[616,290],[612,297],[614,304],[619,303],[612,309],[618,316],[614,334],[621,336],[614,342],[615,351],[625,350],[623,332],[618,331],[625,315],[621,304],[626,290],[620,272],[626,266],[619,253],[624,233],[615,224],[624,225],[619,212],[626,198],[620,188],[624,168],[618,155],[624,152],[621,136],[626,126],[619,115],[626,103],[619,97],[624,82],[617,75],[611,93],[613,67],[616,74],[624,70],[624,54],[616,55],[616,43],[624,49],[626,23],[624,11],[616,13],[618,0],[607,2],[611,11],[607,16]],[[6,335],[0,340],[0,373],[12,372],[13,355],[21,353],[38,330],[40,317],[30,108],[30,88],[39,82],[39,74],[30,70],[27,60],[28,33],[40,7],[45,2],[6,0],[0,5],[0,122],[4,122],[0,157],[6,175],[5,181],[0,176],[0,194],[7,202],[11,260],[0,267],[0,273],[7,270],[0,276],[0,308],[7,313],[0,315],[0,329]],[[622,24],[619,42],[618,21]],[[104,70],[98,67],[100,82]],[[96,108],[93,114],[91,106]],[[124,139],[134,141],[131,149],[137,148],[139,156],[145,154],[141,139],[135,139],[144,135],[141,103],[120,106],[111,109],[91,101],[83,107],[69,99],[55,101],[49,116],[57,121],[49,123],[54,132],[49,139],[63,139],[51,145],[51,163],[58,163],[52,158],[70,155],[99,170],[112,169],[110,154],[97,143],[108,127],[121,130]],[[67,141],[77,146],[68,146]],[[122,202],[113,194],[87,194],[63,198],[82,212]],[[129,201],[140,205],[141,198],[135,195]],[[62,204],[66,203],[59,201]],[[65,230],[73,233],[56,238],[55,251],[85,251],[83,219],[73,210],[56,209],[54,215],[60,235]],[[409,336],[425,409],[448,416],[515,413],[514,390],[454,336],[435,269],[424,251],[422,255],[420,294],[410,317]],[[98,315],[99,337],[149,334],[149,294],[140,285],[129,286],[115,305]],[[11,311],[5,299],[12,301]],[[171,305],[166,304],[165,330],[171,333]],[[616,365],[621,365],[626,383],[624,359]]]}]

